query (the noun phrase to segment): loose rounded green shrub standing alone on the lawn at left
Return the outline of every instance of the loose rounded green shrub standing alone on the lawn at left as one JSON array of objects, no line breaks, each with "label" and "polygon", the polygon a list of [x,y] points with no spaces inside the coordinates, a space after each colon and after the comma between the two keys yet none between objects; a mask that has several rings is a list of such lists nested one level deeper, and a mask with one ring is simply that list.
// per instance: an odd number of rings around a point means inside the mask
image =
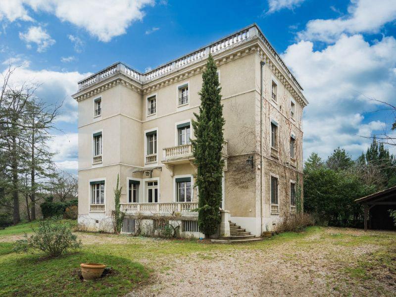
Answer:
[{"label": "loose rounded green shrub standing alone on the lawn at left", "polygon": [[14,250],[32,253],[41,250],[49,257],[60,256],[69,249],[81,247],[81,241],[77,241],[77,236],[71,233],[71,228],[69,223],[62,223],[60,217],[43,220],[37,229],[32,228],[31,237],[25,233],[24,239],[16,242]]}]

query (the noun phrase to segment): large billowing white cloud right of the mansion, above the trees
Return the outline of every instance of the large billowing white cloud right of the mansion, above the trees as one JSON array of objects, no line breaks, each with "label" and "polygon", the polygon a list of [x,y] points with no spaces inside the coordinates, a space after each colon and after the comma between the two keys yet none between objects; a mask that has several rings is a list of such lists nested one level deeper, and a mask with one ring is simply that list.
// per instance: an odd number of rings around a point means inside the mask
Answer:
[{"label": "large billowing white cloud right of the mansion, above the trees", "polygon": [[[337,146],[357,156],[386,119],[365,118],[379,106],[369,98],[395,103],[396,40],[384,37],[372,45],[363,36],[343,35],[334,45],[314,50],[300,41],[283,54],[304,87],[304,157],[317,151],[326,157]],[[389,122],[389,121],[388,121]]]}]

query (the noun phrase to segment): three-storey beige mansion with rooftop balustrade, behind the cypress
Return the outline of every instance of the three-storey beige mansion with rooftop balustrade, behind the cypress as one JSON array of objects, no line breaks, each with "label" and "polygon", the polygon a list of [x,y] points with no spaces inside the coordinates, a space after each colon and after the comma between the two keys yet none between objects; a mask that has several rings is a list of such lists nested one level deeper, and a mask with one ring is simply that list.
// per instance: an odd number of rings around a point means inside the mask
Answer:
[{"label": "three-storey beige mansion with rooftop balustrade, behind the cypress", "polygon": [[140,215],[155,231],[161,226],[150,217],[177,213],[182,236],[203,237],[191,211],[198,190],[190,139],[209,53],[225,118],[221,208],[246,237],[296,212],[308,102],[252,24],[145,73],[117,62],[78,83],[79,223],[108,228],[119,175],[123,232],[133,233]]}]

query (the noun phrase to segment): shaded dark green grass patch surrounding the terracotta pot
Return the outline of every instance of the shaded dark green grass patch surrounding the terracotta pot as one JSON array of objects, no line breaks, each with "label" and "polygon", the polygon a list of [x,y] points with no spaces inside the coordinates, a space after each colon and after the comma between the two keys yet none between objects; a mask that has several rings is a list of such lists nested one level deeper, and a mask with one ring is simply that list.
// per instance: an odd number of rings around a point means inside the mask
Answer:
[{"label": "shaded dark green grass patch surrounding the terracotta pot", "polygon": [[[103,263],[114,273],[82,282],[83,262]],[[0,258],[0,296],[120,296],[148,283],[145,267],[129,259],[82,250],[57,258],[10,253]]]}]

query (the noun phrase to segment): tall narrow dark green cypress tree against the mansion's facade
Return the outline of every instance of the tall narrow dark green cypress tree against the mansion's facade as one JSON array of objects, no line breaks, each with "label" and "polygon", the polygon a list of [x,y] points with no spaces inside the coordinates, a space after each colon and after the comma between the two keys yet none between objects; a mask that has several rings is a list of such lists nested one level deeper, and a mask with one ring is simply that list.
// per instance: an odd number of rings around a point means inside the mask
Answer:
[{"label": "tall narrow dark green cypress tree against the mansion's facade", "polygon": [[217,67],[211,54],[202,74],[202,88],[199,92],[199,114],[193,120],[196,139],[192,141],[195,163],[198,167],[196,185],[198,186],[198,225],[206,236],[214,234],[221,221],[220,210],[222,189],[221,179],[224,160],[221,159],[223,147],[223,105]]}]

